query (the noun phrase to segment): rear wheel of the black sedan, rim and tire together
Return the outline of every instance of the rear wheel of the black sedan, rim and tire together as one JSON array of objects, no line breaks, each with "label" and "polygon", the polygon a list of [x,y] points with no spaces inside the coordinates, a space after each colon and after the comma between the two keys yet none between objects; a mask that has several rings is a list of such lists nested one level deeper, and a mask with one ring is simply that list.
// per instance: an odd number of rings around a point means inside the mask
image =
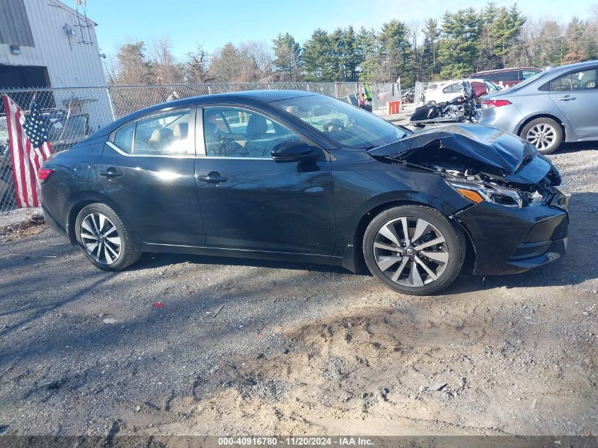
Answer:
[{"label": "rear wheel of the black sedan, rim and tire together", "polygon": [[77,215],[75,234],[81,252],[102,270],[118,271],[139,260],[130,231],[116,212],[100,202],[86,205]]}]

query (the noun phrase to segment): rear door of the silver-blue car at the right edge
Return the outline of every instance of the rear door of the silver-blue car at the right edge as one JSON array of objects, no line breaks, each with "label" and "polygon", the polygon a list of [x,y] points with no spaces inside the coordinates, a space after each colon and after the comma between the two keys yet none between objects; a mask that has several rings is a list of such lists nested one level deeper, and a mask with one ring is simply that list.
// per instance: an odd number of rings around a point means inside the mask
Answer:
[{"label": "rear door of the silver-blue car at the right edge", "polygon": [[578,139],[598,139],[598,67],[575,71],[550,82],[550,97]]}]

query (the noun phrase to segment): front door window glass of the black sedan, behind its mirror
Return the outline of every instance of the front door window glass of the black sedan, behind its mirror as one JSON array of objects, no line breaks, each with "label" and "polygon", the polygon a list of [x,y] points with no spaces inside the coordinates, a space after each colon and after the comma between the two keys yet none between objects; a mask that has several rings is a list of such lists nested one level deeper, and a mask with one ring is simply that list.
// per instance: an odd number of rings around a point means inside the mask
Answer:
[{"label": "front door window glass of the black sedan, behind its mirror", "polygon": [[204,108],[206,156],[270,159],[272,150],[299,135],[253,110]]}]

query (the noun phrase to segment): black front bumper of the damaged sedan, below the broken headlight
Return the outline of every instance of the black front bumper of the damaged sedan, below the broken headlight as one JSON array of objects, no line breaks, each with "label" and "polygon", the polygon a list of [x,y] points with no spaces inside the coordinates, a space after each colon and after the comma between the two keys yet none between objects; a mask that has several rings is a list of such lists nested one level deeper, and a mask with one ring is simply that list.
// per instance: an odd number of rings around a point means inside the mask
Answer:
[{"label": "black front bumper of the damaged sedan, below the broken headlight", "polygon": [[[553,204],[512,209],[480,202],[455,215],[476,251],[476,275],[515,274],[565,255],[568,198]],[[560,202],[559,202],[560,201]]]}]

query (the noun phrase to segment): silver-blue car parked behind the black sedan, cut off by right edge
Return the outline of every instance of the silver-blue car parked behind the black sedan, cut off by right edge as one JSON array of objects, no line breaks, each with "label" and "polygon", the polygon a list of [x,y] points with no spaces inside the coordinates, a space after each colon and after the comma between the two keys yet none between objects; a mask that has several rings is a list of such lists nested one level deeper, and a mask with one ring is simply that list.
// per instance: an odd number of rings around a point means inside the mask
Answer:
[{"label": "silver-blue car parked behind the black sedan, cut off by right edge", "polygon": [[598,140],[598,61],[564,65],[483,97],[480,123],[551,154],[561,142]]}]

